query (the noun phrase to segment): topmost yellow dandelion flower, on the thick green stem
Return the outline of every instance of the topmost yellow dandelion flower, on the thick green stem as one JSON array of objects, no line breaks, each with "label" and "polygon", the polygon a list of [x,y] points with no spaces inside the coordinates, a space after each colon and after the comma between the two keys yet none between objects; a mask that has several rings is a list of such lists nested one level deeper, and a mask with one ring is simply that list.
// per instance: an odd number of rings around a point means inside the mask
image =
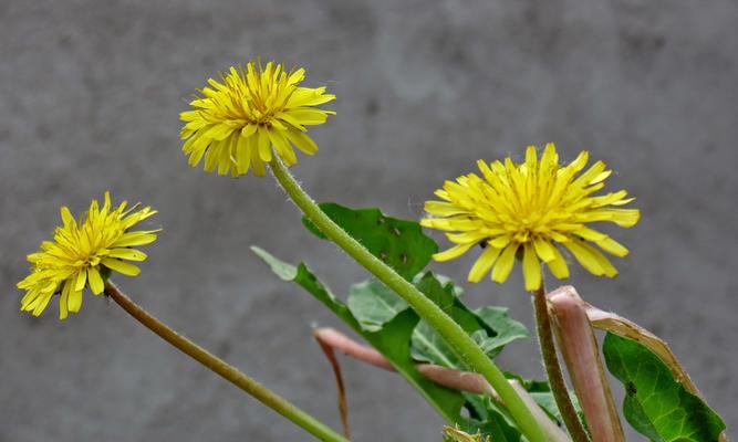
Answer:
[{"label": "topmost yellow dandelion flower, on the thick green stem", "polygon": [[298,162],[293,146],[306,155],[318,145],[305,126],[321,125],[332,110],[316,106],[335,99],[325,87],[302,87],[305,70],[287,71],[283,64],[266,67],[249,62],[246,70],[230,67],[221,81],[208,80],[190,106],[179,114],[183,151],[196,167],[205,157],[205,170],[245,175],[249,168],[261,177],[273,151],[288,166]]}]

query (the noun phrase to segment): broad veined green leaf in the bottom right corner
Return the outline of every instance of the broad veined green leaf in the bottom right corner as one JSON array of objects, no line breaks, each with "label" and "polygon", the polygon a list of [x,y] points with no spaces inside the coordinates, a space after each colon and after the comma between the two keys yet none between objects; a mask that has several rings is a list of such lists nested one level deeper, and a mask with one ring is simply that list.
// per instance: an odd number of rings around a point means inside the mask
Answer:
[{"label": "broad veined green leaf in the bottom right corner", "polygon": [[623,413],[637,432],[654,442],[718,440],[725,422],[654,352],[611,333],[602,349],[607,369],[625,386]]}]

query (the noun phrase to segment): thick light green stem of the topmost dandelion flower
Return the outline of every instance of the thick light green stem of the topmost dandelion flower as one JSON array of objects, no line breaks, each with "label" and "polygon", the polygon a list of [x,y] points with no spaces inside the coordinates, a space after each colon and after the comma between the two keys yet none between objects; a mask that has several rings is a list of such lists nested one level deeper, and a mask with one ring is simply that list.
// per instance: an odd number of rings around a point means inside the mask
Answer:
[{"label": "thick light green stem of the topmost dandelion flower", "polygon": [[510,410],[510,414],[518,423],[518,428],[528,440],[530,442],[545,442],[547,439],[543,431],[538,425],[526,403],[520,399],[510,383],[508,383],[502,371],[487,357],[474,339],[433,301],[428,299],[413,284],[370,253],[362,244],[333,222],[315,201],[305,193],[278,156],[274,156],[270,166],[274,178],[284,188],[284,191],[287,191],[292,201],[329,239],[402,296],[418,316],[450,344],[451,348],[454,348],[462,360],[487,379],[498,392],[508,410]]}]

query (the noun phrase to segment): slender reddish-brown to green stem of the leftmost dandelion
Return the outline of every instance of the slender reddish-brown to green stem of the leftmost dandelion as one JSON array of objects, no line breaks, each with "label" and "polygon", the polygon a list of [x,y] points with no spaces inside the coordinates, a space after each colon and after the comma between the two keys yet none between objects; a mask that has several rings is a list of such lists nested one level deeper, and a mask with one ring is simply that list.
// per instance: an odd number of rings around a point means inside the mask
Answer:
[{"label": "slender reddish-brown to green stem of the leftmost dandelion", "polygon": [[198,346],[177,332],[173,330],[166,324],[162,323],[148,312],[134,303],[128,296],[121,292],[112,282],[105,283],[105,294],[113,298],[117,305],[126,311],[141,324],[148,329],[159,335],[162,339],[177,347],[181,352],[202,364],[205,367],[220,375],[227,381],[236,387],[251,394],[254,399],[271,408],[287,419],[291,420],[303,430],[328,442],[349,442],[347,439],[341,436],[335,431],[331,430],[325,424],[319,422],[312,415],[300,410],[298,407],[289,402],[287,399],[276,394],[267,387],[249,378],[238,370],[238,368],[229,365],[217,356],[212,355],[205,348]]}]

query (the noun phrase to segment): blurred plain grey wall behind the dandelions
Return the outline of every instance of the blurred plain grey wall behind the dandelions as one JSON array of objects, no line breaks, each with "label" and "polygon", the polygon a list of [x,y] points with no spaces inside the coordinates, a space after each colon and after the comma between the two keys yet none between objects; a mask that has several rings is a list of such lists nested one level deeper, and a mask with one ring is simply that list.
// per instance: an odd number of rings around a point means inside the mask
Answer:
[{"label": "blurred plain grey wall behind the dandelions", "polygon": [[[320,154],[293,168],[318,200],[417,219],[479,158],[555,141],[564,159],[605,160],[642,221],[611,230],[632,250],[617,278],[576,271],[571,283],[667,339],[738,425],[737,22],[735,0],[2,0],[0,441],[309,439],[102,297],[65,322],[55,302],[40,318],[19,312],[24,255],[59,207],[79,213],[107,189],[159,209],[165,229],[142,275],[118,285],[339,427],[311,327],[345,327],[249,246],[305,260],[337,294],[366,274],[305,232],[269,178],[206,175],[179,150],[194,90],[257,56],[303,65],[308,85],[337,95],[337,116],[311,131]],[[471,259],[435,269],[462,281]],[[519,270],[466,288],[470,304],[532,324]],[[440,439],[398,376],[342,361],[356,441]],[[533,339],[500,364],[542,376]]]}]

